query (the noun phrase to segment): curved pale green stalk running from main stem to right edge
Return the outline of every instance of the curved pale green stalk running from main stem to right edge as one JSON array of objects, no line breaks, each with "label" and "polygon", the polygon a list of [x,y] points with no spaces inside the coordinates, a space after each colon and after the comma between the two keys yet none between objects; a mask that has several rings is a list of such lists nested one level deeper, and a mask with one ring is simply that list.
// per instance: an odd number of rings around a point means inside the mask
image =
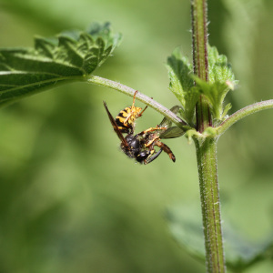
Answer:
[{"label": "curved pale green stalk running from main stem to right edge", "polygon": [[257,113],[258,111],[266,110],[266,109],[270,109],[270,108],[273,108],[273,99],[261,101],[256,104],[246,106],[246,107],[238,110],[237,112],[235,112],[231,116],[227,117],[227,119],[225,119],[216,128],[217,135],[218,136],[222,135],[225,131],[227,131],[227,129],[230,126],[234,125],[236,122],[238,122],[238,120],[242,119],[243,117],[248,116],[250,114]]}]

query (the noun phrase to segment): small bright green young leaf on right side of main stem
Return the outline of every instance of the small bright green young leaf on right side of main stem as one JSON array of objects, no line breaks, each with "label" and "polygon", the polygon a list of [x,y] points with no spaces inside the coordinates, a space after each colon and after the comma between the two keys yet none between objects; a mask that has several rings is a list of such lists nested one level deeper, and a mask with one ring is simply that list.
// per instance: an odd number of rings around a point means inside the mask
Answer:
[{"label": "small bright green young leaf on right side of main stem", "polygon": [[225,107],[224,99],[227,92],[234,90],[237,84],[227,57],[218,55],[217,48],[208,45],[208,74],[209,82],[194,76],[200,93],[207,96],[212,114],[215,119],[222,120],[231,105]]}]

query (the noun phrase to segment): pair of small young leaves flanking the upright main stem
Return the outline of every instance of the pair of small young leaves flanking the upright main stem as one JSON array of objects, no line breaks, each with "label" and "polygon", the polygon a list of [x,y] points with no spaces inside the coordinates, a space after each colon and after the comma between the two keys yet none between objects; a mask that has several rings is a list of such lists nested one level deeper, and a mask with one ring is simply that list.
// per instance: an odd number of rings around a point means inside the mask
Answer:
[{"label": "pair of small young leaves flanking the upright main stem", "polygon": [[169,88],[180,101],[181,115],[188,124],[194,123],[195,106],[200,94],[207,97],[214,118],[224,119],[231,108],[230,104],[223,106],[224,98],[229,90],[234,89],[237,82],[231,66],[227,63],[227,57],[218,55],[216,47],[208,46],[208,83],[193,75],[192,66],[177,49],[167,58],[167,69]]}]

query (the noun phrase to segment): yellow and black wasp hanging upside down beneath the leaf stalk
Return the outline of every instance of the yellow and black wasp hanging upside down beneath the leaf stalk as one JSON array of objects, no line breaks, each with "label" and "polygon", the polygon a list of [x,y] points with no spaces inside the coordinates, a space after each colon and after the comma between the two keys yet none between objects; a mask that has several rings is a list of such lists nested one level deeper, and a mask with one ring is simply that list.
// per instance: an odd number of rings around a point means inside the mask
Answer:
[{"label": "yellow and black wasp hanging upside down beneath the leaf stalk", "polygon": [[[120,147],[127,157],[135,158],[136,162],[144,163],[147,165],[154,161],[162,151],[166,152],[168,156],[176,161],[176,157],[166,144],[160,141],[160,138],[173,138],[182,136],[184,131],[177,126],[171,127],[171,121],[165,117],[162,122],[156,127],[150,127],[145,131],[135,134],[136,118],[142,116],[144,110],[135,106],[136,93],[134,95],[132,106],[126,107],[121,110],[116,116],[116,119],[111,115],[104,101],[106,113],[110,119],[110,122],[119,137],[121,144]],[[179,106],[174,106],[171,111],[177,113]],[[126,133],[126,136],[123,136]],[[160,147],[156,151],[155,147]]]}]

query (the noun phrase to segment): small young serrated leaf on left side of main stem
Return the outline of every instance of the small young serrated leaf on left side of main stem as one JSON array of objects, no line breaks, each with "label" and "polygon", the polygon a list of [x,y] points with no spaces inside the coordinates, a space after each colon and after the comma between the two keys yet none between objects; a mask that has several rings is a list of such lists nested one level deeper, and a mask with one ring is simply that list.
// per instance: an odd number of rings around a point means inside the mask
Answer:
[{"label": "small young serrated leaf on left side of main stem", "polygon": [[169,89],[177,96],[182,106],[181,116],[188,124],[192,124],[199,96],[198,89],[194,88],[192,65],[177,48],[172,56],[167,58],[167,70],[170,80]]}]

